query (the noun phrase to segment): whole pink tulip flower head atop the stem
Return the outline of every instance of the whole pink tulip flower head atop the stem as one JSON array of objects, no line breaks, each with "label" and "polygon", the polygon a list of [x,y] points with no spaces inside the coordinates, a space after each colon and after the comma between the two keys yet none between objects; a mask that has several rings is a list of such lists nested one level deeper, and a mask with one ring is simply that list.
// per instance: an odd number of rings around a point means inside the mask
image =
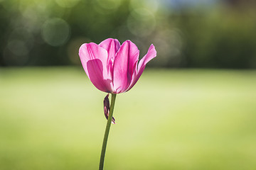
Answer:
[{"label": "whole pink tulip flower head atop the stem", "polygon": [[154,45],[139,61],[139,50],[130,40],[120,45],[117,39],[85,43],[79,49],[82,67],[92,84],[100,91],[120,94],[132,89],[146,67],[156,57]]}]

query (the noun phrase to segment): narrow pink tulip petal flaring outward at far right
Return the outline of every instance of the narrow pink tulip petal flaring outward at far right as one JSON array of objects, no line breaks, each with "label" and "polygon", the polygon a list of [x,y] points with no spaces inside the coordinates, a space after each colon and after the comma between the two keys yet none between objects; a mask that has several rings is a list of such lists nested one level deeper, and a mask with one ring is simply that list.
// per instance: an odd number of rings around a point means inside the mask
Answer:
[{"label": "narrow pink tulip petal flaring outward at far right", "polygon": [[144,55],[144,57],[142,58],[142,60],[139,61],[138,64],[138,70],[137,70],[137,74],[133,75],[132,77],[132,83],[130,84],[129,88],[127,89],[127,91],[129,91],[130,89],[132,89],[132,87],[137,83],[137,81],[139,80],[139,77],[142,75],[142,72],[144,71],[145,67],[146,67],[146,63],[148,63],[150,60],[152,60],[154,57],[156,57],[156,49],[154,47],[154,45],[150,45],[148,52],[146,53],[146,55]]}]

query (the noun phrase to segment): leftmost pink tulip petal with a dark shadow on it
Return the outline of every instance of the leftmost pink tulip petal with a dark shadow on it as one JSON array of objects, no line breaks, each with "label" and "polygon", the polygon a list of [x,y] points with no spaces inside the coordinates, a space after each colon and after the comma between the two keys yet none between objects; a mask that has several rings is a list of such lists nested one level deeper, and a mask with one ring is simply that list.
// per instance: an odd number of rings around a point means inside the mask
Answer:
[{"label": "leftmost pink tulip petal with a dark shadow on it", "polygon": [[79,56],[92,84],[100,91],[111,93],[112,79],[107,73],[107,50],[93,42],[85,43],[79,49]]}]

